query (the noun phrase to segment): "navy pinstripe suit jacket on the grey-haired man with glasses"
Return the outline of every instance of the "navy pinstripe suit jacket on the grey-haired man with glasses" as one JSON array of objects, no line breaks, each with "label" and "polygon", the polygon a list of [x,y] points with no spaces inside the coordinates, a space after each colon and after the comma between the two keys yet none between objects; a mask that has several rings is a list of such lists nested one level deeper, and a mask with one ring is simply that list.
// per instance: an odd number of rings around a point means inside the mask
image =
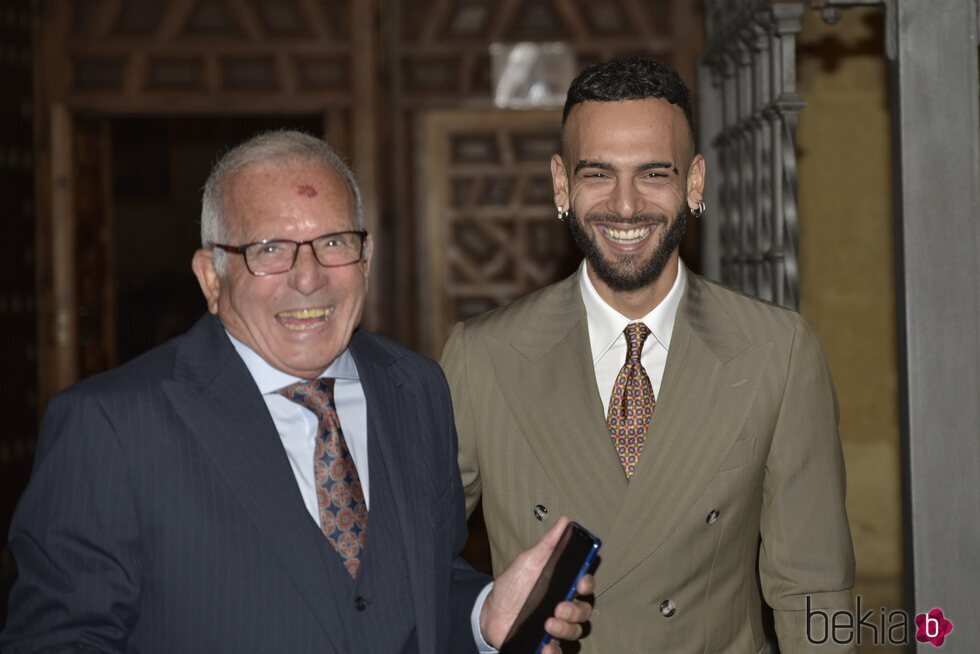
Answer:
[{"label": "navy pinstripe suit jacket on the grey-haired man with glasses", "polygon": [[[487,579],[455,557],[465,522],[445,380],[380,337],[359,332],[350,347],[371,456],[415,463],[379,471],[394,499],[376,555],[399,553],[379,576],[406,578],[417,635],[407,651],[465,651],[459,607]],[[350,589],[331,583],[336,553],[211,317],[52,400],[10,546],[19,577],[5,654],[388,651],[351,641],[362,632],[350,627]],[[359,615],[380,633],[377,606]]]}]

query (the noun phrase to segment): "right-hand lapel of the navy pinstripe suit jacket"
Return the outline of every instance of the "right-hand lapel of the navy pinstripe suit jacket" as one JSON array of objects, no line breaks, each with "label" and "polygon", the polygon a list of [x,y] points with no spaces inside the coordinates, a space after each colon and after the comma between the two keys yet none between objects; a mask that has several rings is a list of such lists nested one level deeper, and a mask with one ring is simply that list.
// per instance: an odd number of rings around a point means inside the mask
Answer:
[{"label": "right-hand lapel of the navy pinstripe suit jacket", "polygon": [[[404,548],[413,606],[431,606],[435,590],[429,570],[434,569],[435,562],[432,561],[432,565],[425,565],[425,562],[432,559],[434,551],[423,540],[429,533],[423,525],[430,523],[431,509],[422,500],[427,495],[417,489],[432,482],[424,478],[422,468],[412,464],[419,458],[418,452],[413,451],[418,434],[425,429],[415,417],[415,409],[425,402],[415,398],[418,390],[406,383],[397,359],[373,342],[373,338],[371,334],[358,332],[350,345],[367,400],[371,478],[385,475],[391,487],[392,513],[397,521],[389,528],[398,530]],[[369,526],[369,548],[370,534]],[[419,651],[433,651],[436,635],[431,616],[416,615],[415,628]]]}]

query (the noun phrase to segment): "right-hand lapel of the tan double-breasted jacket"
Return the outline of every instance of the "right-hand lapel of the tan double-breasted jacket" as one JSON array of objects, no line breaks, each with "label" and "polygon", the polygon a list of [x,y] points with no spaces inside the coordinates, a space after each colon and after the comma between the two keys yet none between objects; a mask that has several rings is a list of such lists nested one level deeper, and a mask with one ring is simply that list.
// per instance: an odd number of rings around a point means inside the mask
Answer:
[{"label": "right-hand lapel of the tan double-breasted jacket", "polygon": [[750,346],[703,280],[687,279],[653,423],[602,551],[597,594],[689,515],[741,430],[769,354],[768,345]]}]

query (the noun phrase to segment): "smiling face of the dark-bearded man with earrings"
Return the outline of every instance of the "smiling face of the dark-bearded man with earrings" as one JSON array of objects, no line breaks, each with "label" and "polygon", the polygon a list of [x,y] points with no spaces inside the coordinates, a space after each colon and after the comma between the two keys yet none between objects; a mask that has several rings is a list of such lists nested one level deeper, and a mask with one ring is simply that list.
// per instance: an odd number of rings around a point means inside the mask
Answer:
[{"label": "smiling face of the dark-bearded man with earrings", "polygon": [[636,290],[676,266],[704,185],[683,111],[660,98],[583,102],[568,115],[564,149],[551,162],[555,199],[600,281]]}]

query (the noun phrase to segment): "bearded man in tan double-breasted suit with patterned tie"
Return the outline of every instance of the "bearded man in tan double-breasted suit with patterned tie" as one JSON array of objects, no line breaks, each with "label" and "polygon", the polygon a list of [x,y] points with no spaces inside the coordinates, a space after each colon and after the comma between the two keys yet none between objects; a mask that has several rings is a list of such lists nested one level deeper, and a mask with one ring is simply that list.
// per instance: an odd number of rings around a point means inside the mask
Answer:
[{"label": "bearded man in tan double-breasted suit with patterned tie", "polygon": [[585,261],[443,359],[495,568],[570,513],[605,543],[583,652],[766,651],[762,598],[783,654],[827,651],[806,609],[848,608],[854,563],[813,330],[680,263],[705,163],[676,72],[586,69],[562,126],[555,204]]}]

